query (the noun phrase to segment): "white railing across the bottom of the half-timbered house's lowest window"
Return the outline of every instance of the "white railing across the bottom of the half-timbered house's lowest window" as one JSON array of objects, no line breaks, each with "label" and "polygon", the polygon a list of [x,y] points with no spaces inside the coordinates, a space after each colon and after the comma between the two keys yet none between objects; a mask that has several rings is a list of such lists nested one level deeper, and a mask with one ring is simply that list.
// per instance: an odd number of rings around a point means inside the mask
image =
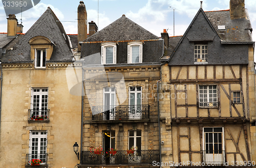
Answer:
[{"label": "white railing across the bottom of the half-timbered house's lowest window", "polygon": [[215,162],[215,163],[224,163],[225,162],[225,151],[203,151],[204,154],[204,162]]}]

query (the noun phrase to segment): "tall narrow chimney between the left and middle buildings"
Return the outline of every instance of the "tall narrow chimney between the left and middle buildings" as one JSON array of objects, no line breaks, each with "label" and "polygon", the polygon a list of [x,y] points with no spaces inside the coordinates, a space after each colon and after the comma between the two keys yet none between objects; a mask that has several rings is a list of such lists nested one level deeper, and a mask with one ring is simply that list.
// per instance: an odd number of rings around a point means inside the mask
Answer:
[{"label": "tall narrow chimney between the left and middle buildings", "polygon": [[[87,39],[87,12],[86,6],[80,1],[80,4],[77,8],[77,19],[78,19],[78,32],[77,32],[77,39],[78,43]],[[81,51],[81,46],[78,44],[78,52]]]}]

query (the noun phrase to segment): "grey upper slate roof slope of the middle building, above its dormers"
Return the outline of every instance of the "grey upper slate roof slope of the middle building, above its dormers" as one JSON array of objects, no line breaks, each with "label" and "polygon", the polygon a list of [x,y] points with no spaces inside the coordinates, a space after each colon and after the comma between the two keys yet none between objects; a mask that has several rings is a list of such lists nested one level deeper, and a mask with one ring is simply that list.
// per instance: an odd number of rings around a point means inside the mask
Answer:
[{"label": "grey upper slate roof slope of the middle building, above its dormers", "polygon": [[122,15],[122,17],[90,36],[83,42],[153,39],[159,39],[159,37],[148,32],[134,21],[125,17],[125,15]]}]

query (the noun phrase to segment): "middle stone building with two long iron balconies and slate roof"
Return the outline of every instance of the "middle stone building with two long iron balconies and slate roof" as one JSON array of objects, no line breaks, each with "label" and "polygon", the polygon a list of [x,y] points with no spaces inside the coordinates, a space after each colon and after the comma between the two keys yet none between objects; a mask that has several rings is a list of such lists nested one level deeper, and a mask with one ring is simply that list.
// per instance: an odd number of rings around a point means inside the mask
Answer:
[{"label": "middle stone building with two long iron balconies and slate roof", "polygon": [[163,40],[123,15],[81,43],[79,167],[151,167],[159,160],[157,81]]}]

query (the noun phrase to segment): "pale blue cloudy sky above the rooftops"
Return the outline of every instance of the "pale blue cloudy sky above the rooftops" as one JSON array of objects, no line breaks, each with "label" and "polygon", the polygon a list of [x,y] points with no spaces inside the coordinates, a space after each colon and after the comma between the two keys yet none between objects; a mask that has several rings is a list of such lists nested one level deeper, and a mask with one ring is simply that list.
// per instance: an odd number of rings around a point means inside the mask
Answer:
[{"label": "pale blue cloudy sky above the rooftops", "polygon": [[[84,0],[88,21],[94,21],[99,30],[120,18],[123,14],[147,31],[161,37],[163,29],[169,36],[182,36],[200,8],[204,11],[227,10],[229,0]],[[67,34],[77,34],[77,7],[80,1],[41,0],[33,8],[23,12],[22,24],[26,33],[35,21],[50,7],[61,21]],[[256,31],[256,1],[245,0],[252,28]],[[174,17],[175,16],[175,17]],[[21,14],[16,14],[20,23]],[[175,29],[174,29],[175,19]],[[175,32],[174,32],[175,30]],[[256,33],[252,32],[253,40]],[[0,33],[7,32],[7,19],[0,3]]]}]

